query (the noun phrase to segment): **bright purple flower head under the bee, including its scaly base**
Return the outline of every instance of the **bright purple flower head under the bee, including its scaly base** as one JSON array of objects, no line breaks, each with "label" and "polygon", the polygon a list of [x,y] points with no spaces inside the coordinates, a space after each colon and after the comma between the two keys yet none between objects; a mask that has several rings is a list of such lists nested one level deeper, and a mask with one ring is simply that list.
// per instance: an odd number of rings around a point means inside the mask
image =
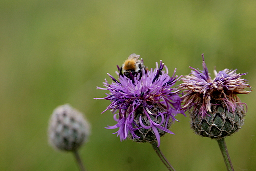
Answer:
[{"label": "bright purple flower head under the bee, including its scaly base", "polygon": [[[166,71],[162,71],[165,67]],[[119,70],[119,67],[118,67]],[[174,121],[175,115],[184,114],[181,110],[179,90],[172,88],[178,76],[170,77],[168,69],[160,61],[160,67],[156,63],[156,69],[141,70],[140,74],[124,77],[119,74],[116,80],[108,74],[113,82],[110,84],[105,79],[106,88],[109,90],[107,97],[95,98],[110,100],[111,104],[104,110],[111,110],[117,124],[108,126],[107,129],[118,128],[117,136],[120,140],[127,137],[137,142],[152,142],[157,140],[160,145],[160,136],[166,132],[174,134],[168,128],[170,120]],[[185,115],[185,114],[184,114]]]}]

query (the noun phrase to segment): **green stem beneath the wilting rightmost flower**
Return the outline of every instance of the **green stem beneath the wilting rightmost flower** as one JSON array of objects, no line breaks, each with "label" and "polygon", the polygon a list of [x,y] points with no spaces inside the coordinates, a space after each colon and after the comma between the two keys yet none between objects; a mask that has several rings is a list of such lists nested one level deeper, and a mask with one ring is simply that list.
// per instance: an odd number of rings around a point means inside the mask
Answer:
[{"label": "green stem beneath the wilting rightmost flower", "polygon": [[228,154],[228,150],[227,150],[227,147],[226,147],[225,139],[222,138],[222,139],[220,139],[220,140],[217,140],[217,142],[218,142],[219,147],[220,147],[220,149],[221,149],[222,156],[223,156],[223,159],[224,159],[224,161],[225,161],[227,170],[228,170],[228,171],[235,171],[234,168],[233,168],[233,165],[232,165],[230,156],[229,156],[229,154]]}]

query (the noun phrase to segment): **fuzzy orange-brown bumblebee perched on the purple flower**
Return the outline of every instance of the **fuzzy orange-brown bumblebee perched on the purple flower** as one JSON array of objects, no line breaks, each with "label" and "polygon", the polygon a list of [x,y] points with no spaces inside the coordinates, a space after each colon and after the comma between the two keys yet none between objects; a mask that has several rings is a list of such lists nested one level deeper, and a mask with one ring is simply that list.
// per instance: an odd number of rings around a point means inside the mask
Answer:
[{"label": "fuzzy orange-brown bumblebee perched on the purple flower", "polygon": [[137,74],[140,73],[142,69],[145,69],[146,71],[143,61],[139,60],[139,57],[140,55],[131,54],[120,68],[120,75],[123,75],[122,70],[127,78],[130,77],[130,73],[132,73],[134,76],[137,76]]}]

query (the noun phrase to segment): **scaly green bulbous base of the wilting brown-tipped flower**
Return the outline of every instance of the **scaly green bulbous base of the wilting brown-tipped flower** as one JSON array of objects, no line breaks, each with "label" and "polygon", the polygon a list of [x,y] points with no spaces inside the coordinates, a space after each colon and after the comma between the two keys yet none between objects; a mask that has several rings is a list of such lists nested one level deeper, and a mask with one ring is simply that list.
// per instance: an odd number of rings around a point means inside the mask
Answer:
[{"label": "scaly green bulbous base of the wilting brown-tipped flower", "polygon": [[211,106],[205,117],[199,114],[200,105],[190,111],[191,128],[202,137],[221,139],[237,132],[244,124],[245,111],[240,105],[233,112],[223,101]]}]

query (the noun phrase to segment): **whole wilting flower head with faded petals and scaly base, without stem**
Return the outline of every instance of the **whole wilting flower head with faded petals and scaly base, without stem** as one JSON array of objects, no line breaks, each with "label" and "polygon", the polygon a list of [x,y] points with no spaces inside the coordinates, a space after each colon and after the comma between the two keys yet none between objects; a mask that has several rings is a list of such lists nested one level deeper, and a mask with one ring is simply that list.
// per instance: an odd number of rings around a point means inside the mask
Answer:
[{"label": "whole wilting flower head with faded petals and scaly base, without stem", "polygon": [[[202,55],[203,57],[203,55]],[[180,89],[185,103],[183,108],[190,110],[191,128],[203,137],[221,139],[237,132],[244,124],[244,105],[237,94],[248,94],[247,80],[236,70],[214,70],[212,80],[203,57],[203,71],[192,69],[191,74],[182,78]]]}]

